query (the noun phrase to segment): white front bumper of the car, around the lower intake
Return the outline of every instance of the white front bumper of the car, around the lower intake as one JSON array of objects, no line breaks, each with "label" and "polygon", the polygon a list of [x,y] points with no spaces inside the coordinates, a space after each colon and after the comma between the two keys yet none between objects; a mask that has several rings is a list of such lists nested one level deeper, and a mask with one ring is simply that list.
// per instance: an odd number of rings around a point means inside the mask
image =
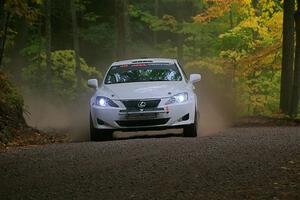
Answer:
[{"label": "white front bumper of the car, around the lower intake", "polygon": [[91,105],[91,116],[96,129],[172,128],[193,124],[195,109],[195,102],[193,101],[158,106],[151,111],[127,111],[122,106],[113,108]]}]

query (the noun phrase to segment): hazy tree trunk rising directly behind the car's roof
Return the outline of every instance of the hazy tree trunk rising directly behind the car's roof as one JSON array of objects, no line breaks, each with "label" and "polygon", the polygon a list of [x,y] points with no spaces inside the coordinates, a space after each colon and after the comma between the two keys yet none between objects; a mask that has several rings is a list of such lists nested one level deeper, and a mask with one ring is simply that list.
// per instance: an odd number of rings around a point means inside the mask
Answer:
[{"label": "hazy tree trunk rising directly behind the car's roof", "polygon": [[124,0],[115,0],[116,12],[116,57],[125,59],[126,57],[126,2]]}]

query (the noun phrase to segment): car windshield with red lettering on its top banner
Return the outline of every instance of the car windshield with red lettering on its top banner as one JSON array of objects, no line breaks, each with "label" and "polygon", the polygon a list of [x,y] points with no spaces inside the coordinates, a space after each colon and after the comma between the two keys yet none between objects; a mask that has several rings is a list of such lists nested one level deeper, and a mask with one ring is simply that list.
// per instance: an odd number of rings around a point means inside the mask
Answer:
[{"label": "car windshield with red lettering on its top banner", "polygon": [[105,84],[181,81],[182,76],[175,64],[138,63],[112,66],[105,78]]}]

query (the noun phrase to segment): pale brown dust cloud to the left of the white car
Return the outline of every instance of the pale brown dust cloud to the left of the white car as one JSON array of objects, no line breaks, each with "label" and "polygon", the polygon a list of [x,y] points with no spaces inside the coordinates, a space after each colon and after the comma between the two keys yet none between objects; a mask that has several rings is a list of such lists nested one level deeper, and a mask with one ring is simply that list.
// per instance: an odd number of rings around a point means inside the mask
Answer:
[{"label": "pale brown dust cloud to the left of the white car", "polygon": [[27,124],[48,133],[64,134],[72,141],[88,140],[88,97],[71,105],[51,99],[55,97],[46,98],[33,94],[24,96]]}]

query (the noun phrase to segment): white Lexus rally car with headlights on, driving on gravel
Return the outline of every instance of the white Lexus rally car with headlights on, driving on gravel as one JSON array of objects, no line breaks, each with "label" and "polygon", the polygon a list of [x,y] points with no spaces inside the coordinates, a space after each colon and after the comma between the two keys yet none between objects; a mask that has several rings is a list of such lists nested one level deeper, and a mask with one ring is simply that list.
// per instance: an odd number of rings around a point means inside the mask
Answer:
[{"label": "white Lexus rally car with headlights on, driving on gravel", "polygon": [[90,100],[91,140],[112,139],[114,131],[183,128],[186,137],[197,137],[197,96],[175,59],[135,59],[115,62]]}]

